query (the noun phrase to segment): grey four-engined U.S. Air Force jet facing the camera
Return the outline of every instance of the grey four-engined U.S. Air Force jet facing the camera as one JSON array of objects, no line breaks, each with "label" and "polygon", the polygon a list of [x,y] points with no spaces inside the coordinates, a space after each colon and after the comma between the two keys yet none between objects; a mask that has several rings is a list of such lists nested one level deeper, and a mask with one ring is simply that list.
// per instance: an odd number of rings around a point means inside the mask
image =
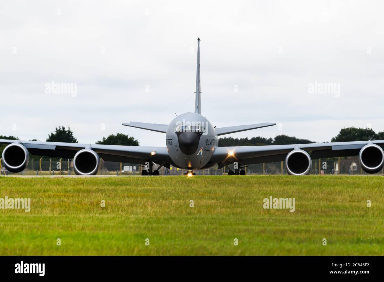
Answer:
[{"label": "grey four-engined U.S. Air Force jet facing the camera", "polygon": [[[9,172],[22,172],[28,165],[29,153],[47,157],[72,158],[76,175],[96,175],[100,158],[110,162],[146,165],[142,175],[159,175],[159,168],[195,170],[228,168],[228,175],[245,175],[244,166],[254,163],[285,161],[290,175],[307,175],[312,159],[359,155],[362,170],[377,173],[383,168],[383,140],[331,142],[292,145],[218,147],[218,136],[276,125],[259,123],[230,127],[213,127],[202,115],[200,87],[200,38],[197,38],[197,71],[194,112],[177,115],[169,124],[129,122],[122,125],[165,134],[166,146],[118,146],[62,142],[40,142],[0,139],[7,144],[2,154],[3,167]],[[154,170],[154,163],[159,167]],[[235,163],[234,170],[228,165]]]}]

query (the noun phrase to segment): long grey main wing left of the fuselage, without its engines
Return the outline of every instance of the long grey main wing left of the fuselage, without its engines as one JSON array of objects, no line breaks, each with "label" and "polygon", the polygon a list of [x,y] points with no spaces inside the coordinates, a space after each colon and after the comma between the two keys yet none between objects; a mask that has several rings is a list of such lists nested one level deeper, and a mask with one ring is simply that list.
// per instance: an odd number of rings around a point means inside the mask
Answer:
[{"label": "long grey main wing left of the fuselage, without its engines", "polygon": [[[32,155],[46,157],[73,158],[74,155],[84,148],[92,149],[99,154],[104,161],[139,163],[145,164],[147,160],[155,163],[164,163],[169,166],[170,158],[167,147],[145,147],[145,146],[118,146],[118,145],[99,145],[99,144],[79,144],[62,142],[41,142],[41,141],[23,141],[23,140],[5,140],[0,139],[0,144],[20,143]],[[156,152],[151,155],[151,152]]]}]

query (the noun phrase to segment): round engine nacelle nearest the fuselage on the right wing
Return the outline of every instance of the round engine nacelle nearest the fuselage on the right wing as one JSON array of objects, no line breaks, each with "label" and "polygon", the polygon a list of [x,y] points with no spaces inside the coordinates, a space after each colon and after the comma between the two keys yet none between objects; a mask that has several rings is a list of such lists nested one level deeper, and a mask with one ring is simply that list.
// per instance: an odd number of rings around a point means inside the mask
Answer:
[{"label": "round engine nacelle nearest the fuselage on the right wing", "polygon": [[306,175],[311,172],[312,160],[304,150],[293,150],[285,157],[285,169],[290,175]]}]

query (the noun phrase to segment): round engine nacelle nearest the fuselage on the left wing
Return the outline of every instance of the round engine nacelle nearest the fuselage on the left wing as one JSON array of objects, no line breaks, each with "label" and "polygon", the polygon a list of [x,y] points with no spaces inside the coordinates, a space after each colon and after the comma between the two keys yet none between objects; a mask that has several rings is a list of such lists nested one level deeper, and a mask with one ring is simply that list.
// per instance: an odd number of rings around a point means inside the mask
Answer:
[{"label": "round engine nacelle nearest the fuselage on the left wing", "polygon": [[99,155],[90,149],[80,150],[73,158],[73,170],[76,175],[96,175],[99,164]]}]

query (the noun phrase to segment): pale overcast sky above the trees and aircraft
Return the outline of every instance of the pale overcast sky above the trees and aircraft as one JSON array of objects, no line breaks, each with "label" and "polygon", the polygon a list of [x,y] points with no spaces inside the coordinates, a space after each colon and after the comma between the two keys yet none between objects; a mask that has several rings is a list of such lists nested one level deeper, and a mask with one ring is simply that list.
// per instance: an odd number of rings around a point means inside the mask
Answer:
[{"label": "pale overcast sky above the trees and aircraft", "polygon": [[[80,143],[122,132],[165,146],[164,134],[121,123],[194,111],[197,36],[202,114],[217,127],[280,124],[227,136],[324,142],[343,127],[383,131],[383,10],[381,1],[2,1],[0,135],[46,140],[65,125]],[[51,81],[76,83],[76,95],[46,93]],[[315,83],[339,93],[311,93]]]}]

